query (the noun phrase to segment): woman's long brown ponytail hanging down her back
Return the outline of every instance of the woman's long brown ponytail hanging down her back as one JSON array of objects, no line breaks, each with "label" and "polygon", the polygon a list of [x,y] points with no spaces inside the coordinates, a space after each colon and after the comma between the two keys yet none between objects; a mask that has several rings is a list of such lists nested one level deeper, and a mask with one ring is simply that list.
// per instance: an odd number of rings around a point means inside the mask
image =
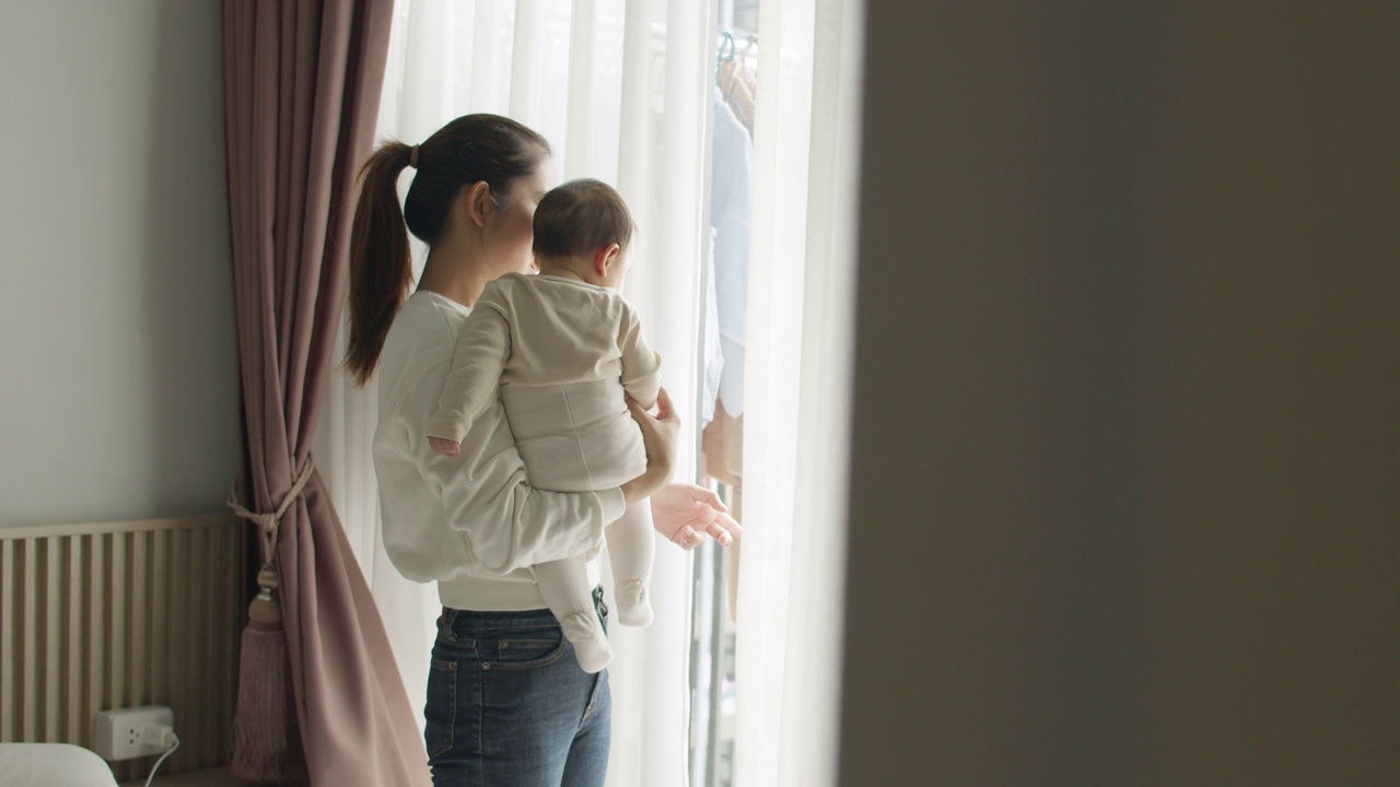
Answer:
[{"label": "woman's long brown ponytail hanging down her back", "polygon": [[391,141],[360,171],[363,185],[350,231],[350,349],[346,365],[364,385],[379,364],[389,323],[413,283],[409,232],[399,207],[399,174],[413,148]]}]

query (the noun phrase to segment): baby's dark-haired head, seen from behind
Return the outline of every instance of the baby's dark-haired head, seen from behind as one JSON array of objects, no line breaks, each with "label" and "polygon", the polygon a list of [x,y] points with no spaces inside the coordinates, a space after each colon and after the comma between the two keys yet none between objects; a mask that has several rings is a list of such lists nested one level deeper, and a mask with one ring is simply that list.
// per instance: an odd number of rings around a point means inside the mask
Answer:
[{"label": "baby's dark-haired head, seen from behind", "polygon": [[592,178],[570,181],[546,193],[535,209],[535,260],[540,273],[622,287],[636,234],[617,189]]}]

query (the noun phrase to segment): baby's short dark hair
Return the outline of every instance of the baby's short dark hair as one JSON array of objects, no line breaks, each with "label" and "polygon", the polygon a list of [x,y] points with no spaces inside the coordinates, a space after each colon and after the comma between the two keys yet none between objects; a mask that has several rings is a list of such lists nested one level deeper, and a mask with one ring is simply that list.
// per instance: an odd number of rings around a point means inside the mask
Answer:
[{"label": "baby's short dark hair", "polygon": [[580,178],[559,185],[535,209],[535,253],[578,256],[617,244],[627,248],[636,232],[631,211],[617,189]]}]

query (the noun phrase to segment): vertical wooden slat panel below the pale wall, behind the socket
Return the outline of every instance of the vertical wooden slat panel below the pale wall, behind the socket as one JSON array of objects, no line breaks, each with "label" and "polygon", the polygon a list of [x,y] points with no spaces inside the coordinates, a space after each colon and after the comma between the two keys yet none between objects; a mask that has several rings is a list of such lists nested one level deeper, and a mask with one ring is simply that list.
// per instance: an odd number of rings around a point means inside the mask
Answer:
[{"label": "vertical wooden slat panel below the pale wall, behind the socket", "polygon": [[242,550],[231,517],[0,529],[0,741],[91,745],[98,710],[165,704],[162,772],[227,763]]}]

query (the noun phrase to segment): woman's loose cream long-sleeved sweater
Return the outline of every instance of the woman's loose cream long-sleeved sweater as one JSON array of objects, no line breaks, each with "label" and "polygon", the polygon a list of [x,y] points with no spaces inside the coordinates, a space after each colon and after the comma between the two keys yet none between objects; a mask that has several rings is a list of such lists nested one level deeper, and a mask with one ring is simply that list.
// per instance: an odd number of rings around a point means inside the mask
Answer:
[{"label": "woman's loose cream long-sleeved sweater", "polygon": [[531,566],[596,553],[603,527],[626,508],[623,494],[532,489],[496,399],[461,454],[433,452],[427,423],[468,314],[437,293],[414,293],[385,339],[374,434],[385,552],[405,577],[437,581],[445,606],[542,609]]}]

